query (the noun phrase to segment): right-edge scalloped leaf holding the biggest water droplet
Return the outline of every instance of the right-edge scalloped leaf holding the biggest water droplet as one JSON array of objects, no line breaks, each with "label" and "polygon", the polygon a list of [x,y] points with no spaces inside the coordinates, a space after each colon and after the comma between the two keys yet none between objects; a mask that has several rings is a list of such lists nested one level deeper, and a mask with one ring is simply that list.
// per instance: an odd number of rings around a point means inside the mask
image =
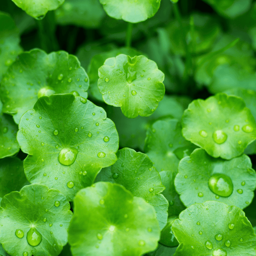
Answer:
[{"label": "right-edge scalloped leaf holding the biggest water droplet", "polygon": [[200,148],[180,160],[175,188],[186,207],[220,201],[244,209],[253,200],[256,173],[245,154],[223,160],[210,157]]}]

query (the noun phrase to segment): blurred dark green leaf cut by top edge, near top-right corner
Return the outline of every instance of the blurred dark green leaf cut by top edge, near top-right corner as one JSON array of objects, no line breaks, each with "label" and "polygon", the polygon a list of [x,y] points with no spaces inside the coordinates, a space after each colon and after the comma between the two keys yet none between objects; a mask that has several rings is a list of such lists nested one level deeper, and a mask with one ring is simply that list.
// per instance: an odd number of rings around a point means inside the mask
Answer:
[{"label": "blurred dark green leaf cut by top edge, near top-right corner", "polygon": [[204,0],[218,12],[219,15],[235,18],[250,9],[252,0]]}]

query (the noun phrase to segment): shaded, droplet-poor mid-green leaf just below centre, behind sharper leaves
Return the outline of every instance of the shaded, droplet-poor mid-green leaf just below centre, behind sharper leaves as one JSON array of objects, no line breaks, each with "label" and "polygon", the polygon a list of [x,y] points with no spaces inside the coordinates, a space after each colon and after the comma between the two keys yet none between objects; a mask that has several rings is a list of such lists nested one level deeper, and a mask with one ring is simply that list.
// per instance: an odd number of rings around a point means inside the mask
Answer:
[{"label": "shaded, droplet-poor mid-green leaf just below centre, behind sharper leaves", "polygon": [[177,172],[180,159],[190,155],[195,148],[183,138],[177,119],[157,120],[147,130],[145,153],[159,172]]}]

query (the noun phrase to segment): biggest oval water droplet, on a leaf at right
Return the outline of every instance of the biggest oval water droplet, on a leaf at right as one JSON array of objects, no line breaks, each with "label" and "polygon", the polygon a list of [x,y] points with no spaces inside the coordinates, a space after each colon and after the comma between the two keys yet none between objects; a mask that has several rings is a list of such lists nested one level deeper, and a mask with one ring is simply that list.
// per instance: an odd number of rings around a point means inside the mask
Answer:
[{"label": "biggest oval water droplet, on a leaf at right", "polygon": [[209,189],[216,195],[229,197],[233,193],[233,183],[230,177],[215,173],[208,180]]}]

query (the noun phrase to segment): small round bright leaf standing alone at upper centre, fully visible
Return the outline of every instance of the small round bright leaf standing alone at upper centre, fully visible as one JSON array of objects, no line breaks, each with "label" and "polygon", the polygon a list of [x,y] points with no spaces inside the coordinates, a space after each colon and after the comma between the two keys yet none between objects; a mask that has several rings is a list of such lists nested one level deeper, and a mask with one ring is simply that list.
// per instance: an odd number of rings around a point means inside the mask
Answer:
[{"label": "small round bright leaf standing alone at upper centre, fully visible", "polygon": [[121,107],[126,117],[135,118],[156,110],[165,93],[163,79],[154,61],[120,54],[99,68],[98,87],[108,105]]}]

